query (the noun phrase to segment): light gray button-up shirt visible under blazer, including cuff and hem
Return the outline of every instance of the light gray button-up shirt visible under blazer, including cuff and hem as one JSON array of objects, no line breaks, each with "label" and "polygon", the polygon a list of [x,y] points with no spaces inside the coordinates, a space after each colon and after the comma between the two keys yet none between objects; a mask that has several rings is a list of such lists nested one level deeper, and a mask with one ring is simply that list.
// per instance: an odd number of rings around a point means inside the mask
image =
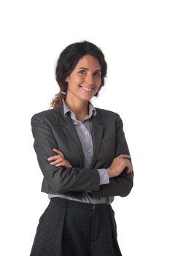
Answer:
[{"label": "light gray button-up shirt visible under blazer, including cuff and hem", "polygon": [[[74,127],[77,131],[77,135],[80,138],[80,141],[82,143],[83,152],[85,155],[85,168],[90,167],[91,160],[93,158],[93,141],[91,137],[91,129],[92,129],[92,123],[91,123],[91,116],[96,116],[96,109],[93,107],[92,103],[89,102],[89,111],[88,116],[85,116],[85,119],[83,121],[77,120],[74,113],[69,109],[69,107],[66,105],[66,102],[63,101],[63,113],[64,116],[67,116],[70,114],[70,117],[72,118],[72,122],[74,124]],[[106,169],[98,169],[98,173],[100,176],[100,184],[108,184],[109,183],[109,176]],[[88,191],[90,192],[90,191]],[[49,199],[52,197],[62,197],[69,200],[75,200],[80,201],[84,203],[112,203],[114,200],[114,197],[98,197],[98,198],[92,198],[88,192],[83,192],[82,195],[70,197],[66,194],[61,193],[59,194],[48,194]]]}]

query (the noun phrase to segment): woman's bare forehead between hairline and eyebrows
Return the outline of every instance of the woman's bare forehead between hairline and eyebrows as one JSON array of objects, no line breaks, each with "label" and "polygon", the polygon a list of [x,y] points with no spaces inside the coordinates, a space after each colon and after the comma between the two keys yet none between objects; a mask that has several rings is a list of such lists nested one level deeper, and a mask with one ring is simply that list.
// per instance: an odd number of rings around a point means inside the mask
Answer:
[{"label": "woman's bare forehead between hairline and eyebrows", "polygon": [[80,68],[80,67],[87,67],[87,68],[91,67],[93,69],[101,69],[101,65],[98,59],[96,59],[96,57],[91,55],[85,55],[82,57],[82,59],[80,59],[77,62],[77,65],[75,68]]}]

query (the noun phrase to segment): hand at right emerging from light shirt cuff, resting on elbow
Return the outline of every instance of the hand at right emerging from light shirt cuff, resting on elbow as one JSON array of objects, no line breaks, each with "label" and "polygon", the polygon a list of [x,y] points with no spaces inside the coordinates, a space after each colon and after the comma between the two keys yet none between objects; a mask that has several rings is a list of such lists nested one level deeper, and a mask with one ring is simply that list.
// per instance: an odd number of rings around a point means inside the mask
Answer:
[{"label": "hand at right emerging from light shirt cuff, resting on elbow", "polygon": [[120,154],[118,157],[115,157],[110,167],[107,168],[109,178],[119,176],[125,167],[128,167],[128,170],[127,170],[128,174],[132,173],[134,170],[129,160],[130,158],[131,156],[129,156],[128,154]]}]

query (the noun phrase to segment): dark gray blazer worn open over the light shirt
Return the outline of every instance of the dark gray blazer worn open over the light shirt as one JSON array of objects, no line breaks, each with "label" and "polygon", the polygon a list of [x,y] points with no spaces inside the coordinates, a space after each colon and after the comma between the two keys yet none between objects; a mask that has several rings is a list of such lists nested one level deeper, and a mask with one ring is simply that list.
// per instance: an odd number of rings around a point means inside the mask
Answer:
[{"label": "dark gray blazer worn open over the light shirt", "polygon": [[[133,187],[134,173],[127,174],[127,167],[120,176],[109,178],[109,184],[100,184],[98,168],[107,168],[114,157],[129,154],[119,114],[96,108],[92,116],[93,159],[84,168],[84,153],[80,138],[70,116],[63,115],[63,102],[58,108],[45,110],[31,117],[34,150],[44,176],[42,192],[64,192],[78,195],[91,191],[92,197],[125,197]],[[50,165],[48,157],[55,155],[53,148],[62,151],[72,167]]]}]

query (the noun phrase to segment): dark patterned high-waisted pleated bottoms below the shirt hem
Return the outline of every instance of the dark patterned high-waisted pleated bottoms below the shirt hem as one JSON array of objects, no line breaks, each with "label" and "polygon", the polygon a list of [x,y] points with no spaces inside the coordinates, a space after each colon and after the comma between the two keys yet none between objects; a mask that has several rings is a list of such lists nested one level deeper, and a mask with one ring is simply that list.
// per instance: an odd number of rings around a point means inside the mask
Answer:
[{"label": "dark patterned high-waisted pleated bottoms below the shirt hem", "polygon": [[30,256],[121,256],[112,206],[53,197],[39,218]]}]

